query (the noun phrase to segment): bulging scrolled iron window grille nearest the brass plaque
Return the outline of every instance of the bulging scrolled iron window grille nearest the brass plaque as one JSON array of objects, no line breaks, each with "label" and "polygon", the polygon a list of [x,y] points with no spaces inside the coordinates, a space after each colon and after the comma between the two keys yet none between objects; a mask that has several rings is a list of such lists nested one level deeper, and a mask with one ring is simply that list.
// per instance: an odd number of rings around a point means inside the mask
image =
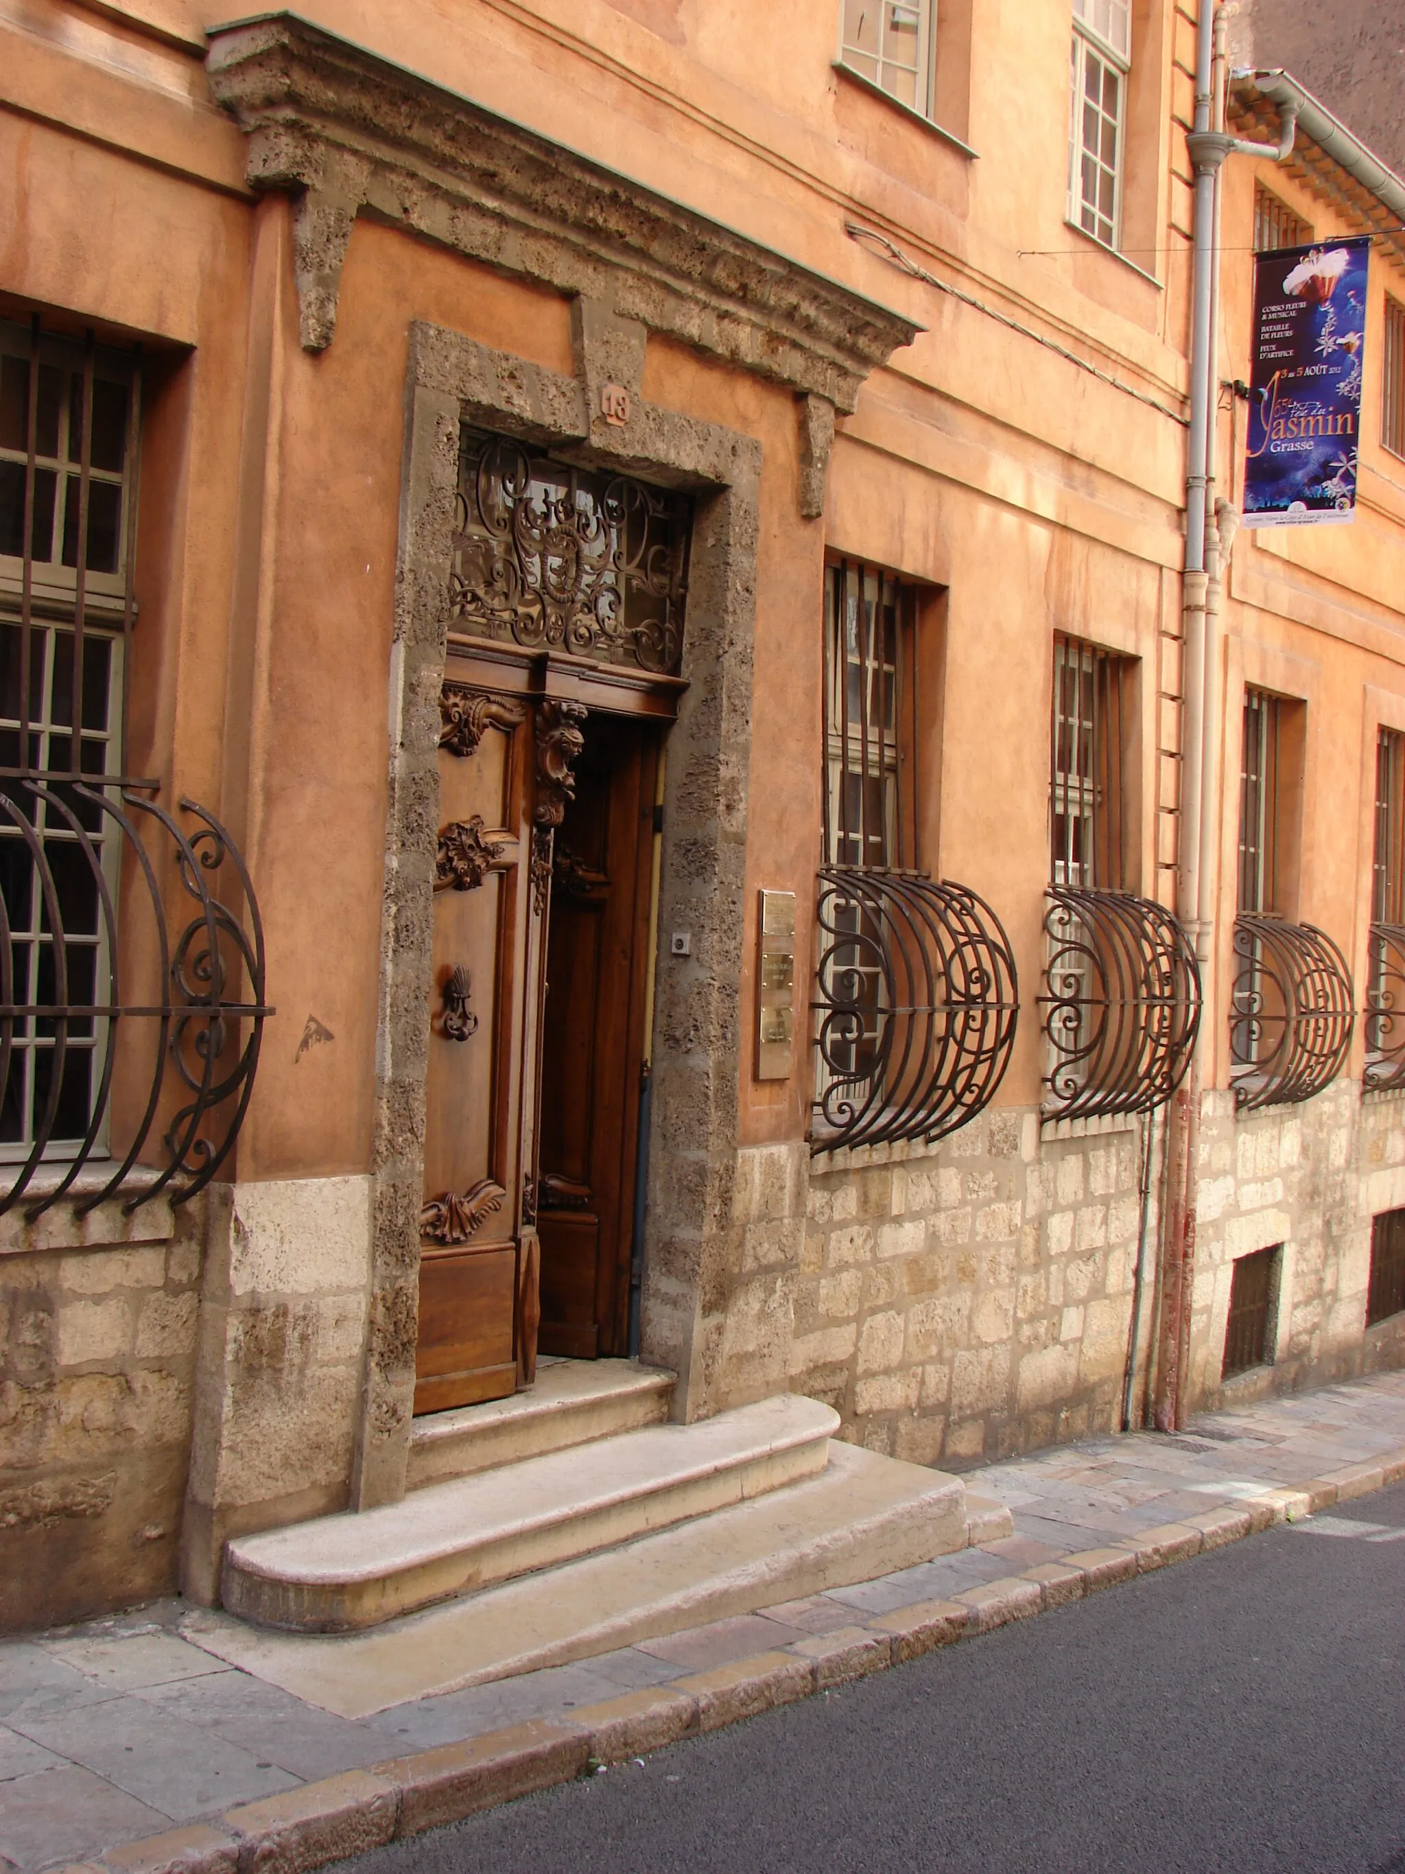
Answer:
[{"label": "bulging scrolled iron window grille nearest the brass plaque", "polygon": [[1000,920],[918,871],[819,873],[811,1151],[927,1143],[995,1096],[1019,982]]}]

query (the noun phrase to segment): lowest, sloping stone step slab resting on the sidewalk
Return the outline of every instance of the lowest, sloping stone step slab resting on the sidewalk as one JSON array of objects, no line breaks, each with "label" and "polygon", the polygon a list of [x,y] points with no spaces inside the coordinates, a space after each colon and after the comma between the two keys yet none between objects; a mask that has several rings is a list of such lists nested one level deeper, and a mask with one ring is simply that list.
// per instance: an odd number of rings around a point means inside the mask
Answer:
[{"label": "lowest, sloping stone step slab resting on the sidewalk", "polygon": [[185,1615],[182,1632],[296,1698],[363,1718],[852,1587],[946,1555],[965,1539],[959,1477],[836,1443],[819,1477],[371,1632],[268,1632],[202,1608]]}]

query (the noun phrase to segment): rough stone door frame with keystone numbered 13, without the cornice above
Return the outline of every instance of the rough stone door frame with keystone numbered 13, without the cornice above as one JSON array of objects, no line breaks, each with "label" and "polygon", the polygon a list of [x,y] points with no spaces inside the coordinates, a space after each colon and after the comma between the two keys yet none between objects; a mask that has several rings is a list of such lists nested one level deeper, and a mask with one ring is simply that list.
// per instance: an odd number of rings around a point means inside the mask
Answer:
[{"label": "rough stone door frame with keystone numbered 13, without the cornice above", "polygon": [[[438,699],[461,424],[594,465],[613,461],[631,476],[695,493],[682,671],[689,688],[669,736],[661,886],[663,926],[689,928],[693,956],[686,969],[659,976],[644,1293],[646,1357],[680,1374],[689,1368],[702,1261],[712,1248],[708,1218],[727,1205],[736,1156],[740,1033],[736,997],[725,986],[742,965],[761,446],[643,401],[646,332],[637,320],[577,300],[571,324],[575,379],[436,326],[416,324],[410,334],[358,1507],[399,1497],[408,1456]],[[588,386],[596,382],[628,392],[624,425],[592,422]]]}]

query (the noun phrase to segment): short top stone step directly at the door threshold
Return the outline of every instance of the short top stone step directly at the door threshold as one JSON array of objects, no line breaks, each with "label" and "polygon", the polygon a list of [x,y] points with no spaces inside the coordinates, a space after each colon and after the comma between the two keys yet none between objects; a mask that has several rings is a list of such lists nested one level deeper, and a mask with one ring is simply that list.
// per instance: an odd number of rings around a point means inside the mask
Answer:
[{"label": "short top stone step directly at the door threshold", "polygon": [[416,1419],[407,1488],[663,1424],[674,1383],[673,1374],[637,1361],[543,1361],[530,1392]]}]

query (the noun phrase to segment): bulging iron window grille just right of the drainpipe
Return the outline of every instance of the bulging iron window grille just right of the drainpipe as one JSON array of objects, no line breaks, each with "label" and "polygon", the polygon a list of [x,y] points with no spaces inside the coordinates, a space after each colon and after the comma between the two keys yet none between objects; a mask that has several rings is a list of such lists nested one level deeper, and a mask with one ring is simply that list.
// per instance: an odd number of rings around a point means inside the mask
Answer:
[{"label": "bulging iron window grille just right of the drainpipe", "polygon": [[1229,1083],[1250,1111],[1311,1100],[1347,1059],[1353,986],[1347,959],[1315,924],[1235,918]]}]

